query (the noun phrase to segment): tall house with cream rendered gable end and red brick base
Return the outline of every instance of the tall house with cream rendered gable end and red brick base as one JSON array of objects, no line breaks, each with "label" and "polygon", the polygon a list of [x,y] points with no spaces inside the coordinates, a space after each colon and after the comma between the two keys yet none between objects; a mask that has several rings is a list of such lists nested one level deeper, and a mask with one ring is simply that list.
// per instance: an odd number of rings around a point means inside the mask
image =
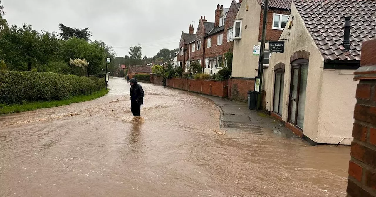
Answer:
[{"label": "tall house with cream rendered gable end and red brick base", "polygon": [[[245,101],[247,91],[254,90],[259,56],[252,55],[252,51],[254,45],[261,44],[263,2],[262,0],[243,0],[234,19],[230,99]],[[290,17],[291,0],[270,0],[268,7],[264,67],[268,66],[270,57],[268,41],[280,38]]]}]

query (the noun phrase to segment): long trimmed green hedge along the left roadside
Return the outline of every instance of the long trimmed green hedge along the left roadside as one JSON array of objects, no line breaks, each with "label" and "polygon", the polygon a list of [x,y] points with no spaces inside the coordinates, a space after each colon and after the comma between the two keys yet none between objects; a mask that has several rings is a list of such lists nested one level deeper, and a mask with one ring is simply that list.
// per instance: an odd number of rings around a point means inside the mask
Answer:
[{"label": "long trimmed green hedge along the left roadside", "polygon": [[63,100],[105,87],[105,79],[52,72],[0,71],[0,104]]}]

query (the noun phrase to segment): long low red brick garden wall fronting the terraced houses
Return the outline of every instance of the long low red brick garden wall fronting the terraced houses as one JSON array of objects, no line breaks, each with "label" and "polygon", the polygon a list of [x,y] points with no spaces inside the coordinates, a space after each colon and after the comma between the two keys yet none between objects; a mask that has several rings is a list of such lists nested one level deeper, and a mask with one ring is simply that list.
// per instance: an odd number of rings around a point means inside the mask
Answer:
[{"label": "long low red brick garden wall fronting the terraced houses", "polygon": [[194,80],[186,78],[171,78],[167,80],[167,87],[172,87],[189,92],[227,98],[228,80]]}]

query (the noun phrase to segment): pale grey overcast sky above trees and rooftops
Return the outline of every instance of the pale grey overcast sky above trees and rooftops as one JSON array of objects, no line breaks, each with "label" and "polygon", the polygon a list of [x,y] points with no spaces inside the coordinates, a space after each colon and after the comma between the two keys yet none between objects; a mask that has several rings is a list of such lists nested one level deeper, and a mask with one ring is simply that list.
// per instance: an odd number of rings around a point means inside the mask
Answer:
[{"label": "pale grey overcast sky above trees and rooftops", "polygon": [[232,0],[2,0],[8,24],[31,24],[37,31],[58,32],[58,24],[90,27],[92,40],[114,47],[118,56],[141,44],[152,57],[161,48],[179,48],[181,32],[188,33],[200,16],[214,22],[217,4],[229,8]]}]

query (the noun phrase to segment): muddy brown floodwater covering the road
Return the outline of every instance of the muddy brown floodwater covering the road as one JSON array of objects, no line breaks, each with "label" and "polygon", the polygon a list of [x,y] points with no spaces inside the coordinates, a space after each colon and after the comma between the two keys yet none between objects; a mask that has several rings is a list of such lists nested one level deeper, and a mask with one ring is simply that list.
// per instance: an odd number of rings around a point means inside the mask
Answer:
[{"label": "muddy brown floodwater covering the road", "polygon": [[218,131],[209,99],[141,85],[145,123],[132,123],[120,78],[94,101],[0,116],[0,196],[346,196],[348,146]]}]

